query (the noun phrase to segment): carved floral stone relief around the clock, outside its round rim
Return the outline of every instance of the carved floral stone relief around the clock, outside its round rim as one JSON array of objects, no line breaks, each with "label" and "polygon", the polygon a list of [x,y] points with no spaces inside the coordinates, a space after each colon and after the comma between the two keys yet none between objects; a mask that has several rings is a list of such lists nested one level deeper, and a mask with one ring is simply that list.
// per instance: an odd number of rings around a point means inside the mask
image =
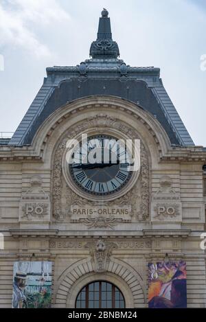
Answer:
[{"label": "carved floral stone relief around the clock, outside its round rim", "polygon": [[[89,117],[80,124],[76,124],[71,127],[64,137],[62,137],[58,144],[54,154],[54,169],[53,169],[53,217],[56,221],[70,221],[69,216],[71,214],[71,205],[100,205],[97,201],[87,200],[74,193],[62,176],[62,155],[65,152],[66,143],[68,139],[72,139],[80,133],[87,132],[88,129],[96,130],[98,133],[104,133],[106,128],[116,129],[124,133],[130,139],[137,139],[138,134],[135,130],[129,128],[124,122],[119,122],[115,117],[109,117],[102,113]],[[141,172],[140,180],[135,183],[134,187],[130,189],[124,196],[116,200],[107,201],[104,205],[112,207],[118,205],[121,207],[124,205],[132,206],[132,213],[135,221],[146,221],[149,217],[149,162],[148,152],[141,141]],[[62,202],[64,200],[64,202]]]}]

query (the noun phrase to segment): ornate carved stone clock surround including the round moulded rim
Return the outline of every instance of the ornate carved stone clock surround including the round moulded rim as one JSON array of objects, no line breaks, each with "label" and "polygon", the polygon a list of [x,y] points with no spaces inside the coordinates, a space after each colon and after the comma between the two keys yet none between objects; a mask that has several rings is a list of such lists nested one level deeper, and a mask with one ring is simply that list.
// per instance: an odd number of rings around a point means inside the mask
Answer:
[{"label": "ornate carved stone clock surround including the round moulded rim", "polygon": [[[99,205],[100,202],[100,198],[89,198],[88,195],[81,194],[79,190],[76,191],[76,189],[73,189],[73,186],[68,184],[67,174],[64,170],[65,167],[62,166],[66,153],[67,140],[77,138],[80,136],[80,133],[87,133],[88,136],[105,134],[123,139],[139,138],[137,131],[129,127],[128,124],[115,117],[110,117],[102,113],[84,119],[82,122],[78,122],[78,124],[71,126],[71,128],[62,135],[54,152],[52,180],[53,217],[57,221],[70,221],[70,207],[72,205]],[[119,194],[105,198],[104,205],[131,205],[131,216],[133,219],[135,221],[145,221],[149,218],[149,199],[148,151],[141,140],[140,172],[136,174],[134,172],[130,182],[124,189],[119,191]]]}]

